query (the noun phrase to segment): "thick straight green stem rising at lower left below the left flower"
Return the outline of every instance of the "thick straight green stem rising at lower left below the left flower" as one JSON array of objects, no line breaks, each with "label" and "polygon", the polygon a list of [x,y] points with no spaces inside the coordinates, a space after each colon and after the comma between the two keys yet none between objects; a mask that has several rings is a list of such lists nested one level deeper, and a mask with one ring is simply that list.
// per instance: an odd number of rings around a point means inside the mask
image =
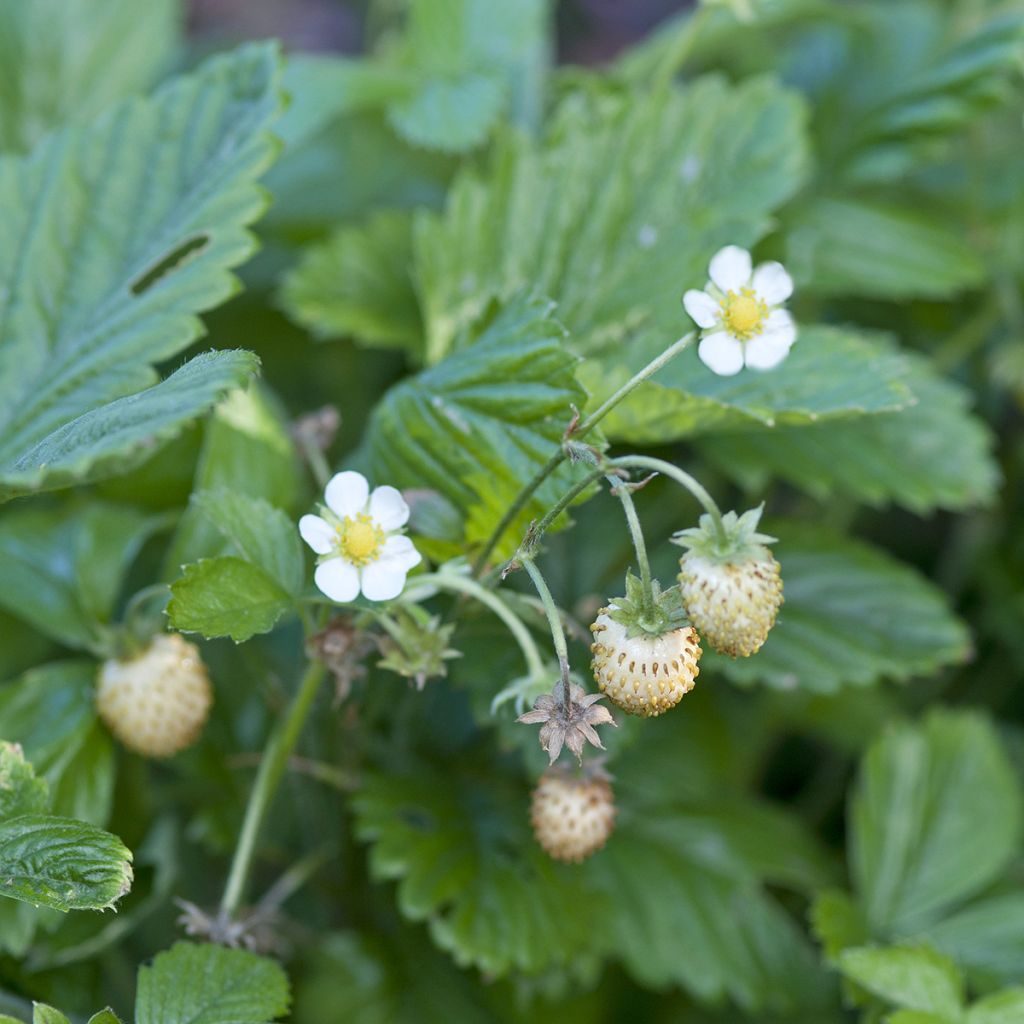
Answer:
[{"label": "thick straight green stem rising at lower left below the left flower", "polygon": [[288,759],[295,750],[302,727],[312,710],[313,698],[326,672],[325,666],[319,662],[313,662],[308,666],[299,688],[295,691],[287,716],[267,741],[259,771],[256,773],[256,781],[249,795],[245,821],[239,834],[238,846],[234,848],[234,858],[224,886],[224,896],[220,901],[220,911],[225,918],[233,918],[242,905],[260,826],[285,774]]}]

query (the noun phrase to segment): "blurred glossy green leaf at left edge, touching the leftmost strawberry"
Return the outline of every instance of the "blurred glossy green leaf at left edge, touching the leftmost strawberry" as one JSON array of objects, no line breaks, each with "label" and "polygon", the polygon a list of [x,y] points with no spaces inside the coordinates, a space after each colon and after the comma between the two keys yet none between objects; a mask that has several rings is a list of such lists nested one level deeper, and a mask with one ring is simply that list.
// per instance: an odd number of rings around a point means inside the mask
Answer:
[{"label": "blurred glossy green leaf at left edge, touching the leftmost strawberry", "polygon": [[96,719],[92,662],[42,666],[0,686],[0,736],[17,736],[49,784],[54,814],[104,825],[114,791],[114,746]]}]

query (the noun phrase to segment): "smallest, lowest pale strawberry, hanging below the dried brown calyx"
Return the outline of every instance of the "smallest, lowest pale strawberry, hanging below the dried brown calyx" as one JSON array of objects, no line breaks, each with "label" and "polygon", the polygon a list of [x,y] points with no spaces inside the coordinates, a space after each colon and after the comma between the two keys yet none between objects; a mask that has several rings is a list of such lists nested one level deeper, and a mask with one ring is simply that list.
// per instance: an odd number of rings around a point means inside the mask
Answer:
[{"label": "smallest, lowest pale strawberry, hanging below the dried brown calyx", "polygon": [[534,790],[529,819],[549,856],[585,860],[604,846],[614,827],[611,786],[604,777],[579,778],[550,769]]}]

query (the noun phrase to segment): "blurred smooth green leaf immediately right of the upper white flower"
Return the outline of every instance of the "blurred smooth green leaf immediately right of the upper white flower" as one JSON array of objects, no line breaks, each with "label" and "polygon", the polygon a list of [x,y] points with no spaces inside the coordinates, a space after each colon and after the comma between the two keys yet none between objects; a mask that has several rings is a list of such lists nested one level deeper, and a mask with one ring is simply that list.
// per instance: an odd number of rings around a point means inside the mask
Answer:
[{"label": "blurred smooth green leaf immediately right of the upper white flower", "polygon": [[800,204],[785,265],[801,289],[879,299],[945,299],[985,278],[948,216],[854,198]]}]

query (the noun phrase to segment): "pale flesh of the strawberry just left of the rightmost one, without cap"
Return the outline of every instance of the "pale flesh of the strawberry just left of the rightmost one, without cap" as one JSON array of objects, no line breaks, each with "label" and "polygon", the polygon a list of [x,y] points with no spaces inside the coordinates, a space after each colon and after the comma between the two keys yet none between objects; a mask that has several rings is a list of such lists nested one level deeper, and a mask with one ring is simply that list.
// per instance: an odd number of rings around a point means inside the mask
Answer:
[{"label": "pale flesh of the strawberry just left of the rightmost one, without cap", "polygon": [[631,715],[653,718],[693,689],[700,641],[690,626],[659,635],[637,633],[617,622],[612,604],[598,613],[591,632],[591,669],[602,693]]}]

